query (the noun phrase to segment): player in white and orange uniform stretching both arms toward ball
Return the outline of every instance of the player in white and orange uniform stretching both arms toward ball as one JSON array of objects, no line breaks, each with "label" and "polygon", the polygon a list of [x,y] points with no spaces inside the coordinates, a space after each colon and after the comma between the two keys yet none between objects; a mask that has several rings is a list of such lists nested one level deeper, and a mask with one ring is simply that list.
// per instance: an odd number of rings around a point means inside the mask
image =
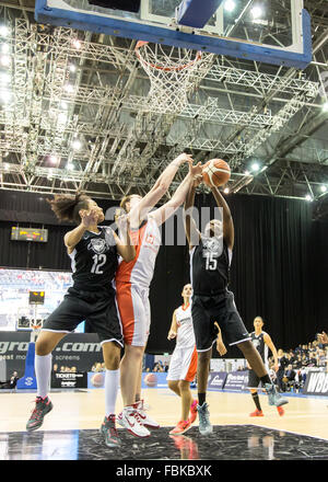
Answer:
[{"label": "player in white and orange uniform stretching both arms toward ball", "polygon": [[[176,172],[185,162],[189,163],[188,175],[166,204],[150,213],[167,192]],[[119,291],[117,302],[125,340],[125,355],[120,363],[124,410],[117,420],[122,427],[138,437],[150,435],[147,427],[159,428],[159,424],[145,414],[143,401],[139,400],[142,357],[151,320],[149,287],[161,245],[159,226],[184,203],[197,173],[201,173],[201,164],[194,167],[190,156],[183,153],[164,170],[144,197],[130,195],[120,203],[120,207],[128,213],[130,219],[130,236],[137,255],[132,262],[121,261],[116,273],[116,288]]]}]

